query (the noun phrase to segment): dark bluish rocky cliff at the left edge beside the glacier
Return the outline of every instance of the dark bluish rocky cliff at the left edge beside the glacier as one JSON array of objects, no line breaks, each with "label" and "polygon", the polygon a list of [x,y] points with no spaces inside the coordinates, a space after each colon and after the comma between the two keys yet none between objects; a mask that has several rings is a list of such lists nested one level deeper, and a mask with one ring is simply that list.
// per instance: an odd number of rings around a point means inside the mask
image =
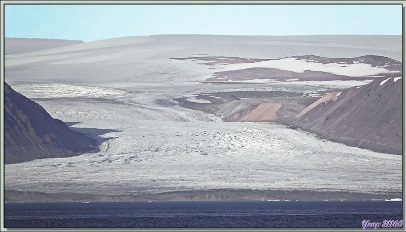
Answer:
[{"label": "dark bluish rocky cliff at the left edge beside the glacier", "polygon": [[97,152],[96,140],[53,119],[5,83],[5,164]]}]

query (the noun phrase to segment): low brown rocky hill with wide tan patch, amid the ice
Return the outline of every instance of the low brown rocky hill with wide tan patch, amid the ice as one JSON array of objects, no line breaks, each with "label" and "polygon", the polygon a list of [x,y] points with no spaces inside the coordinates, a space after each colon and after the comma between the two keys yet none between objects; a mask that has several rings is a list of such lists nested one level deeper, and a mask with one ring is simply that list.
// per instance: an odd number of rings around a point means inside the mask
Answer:
[{"label": "low brown rocky hill with wide tan patch, amid the ice", "polygon": [[271,122],[294,117],[317,100],[301,95],[284,91],[235,91],[196,97],[210,103],[192,102],[185,98],[174,100],[182,107],[219,115],[226,122]]}]

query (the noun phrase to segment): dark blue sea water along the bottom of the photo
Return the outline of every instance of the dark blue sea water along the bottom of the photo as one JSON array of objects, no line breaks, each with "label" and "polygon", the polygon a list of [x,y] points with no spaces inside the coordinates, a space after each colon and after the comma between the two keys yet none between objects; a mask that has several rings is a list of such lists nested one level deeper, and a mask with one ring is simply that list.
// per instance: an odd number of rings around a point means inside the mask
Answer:
[{"label": "dark blue sea water along the bottom of the photo", "polygon": [[5,203],[4,217],[6,228],[361,228],[363,220],[403,220],[402,202],[385,201]]}]

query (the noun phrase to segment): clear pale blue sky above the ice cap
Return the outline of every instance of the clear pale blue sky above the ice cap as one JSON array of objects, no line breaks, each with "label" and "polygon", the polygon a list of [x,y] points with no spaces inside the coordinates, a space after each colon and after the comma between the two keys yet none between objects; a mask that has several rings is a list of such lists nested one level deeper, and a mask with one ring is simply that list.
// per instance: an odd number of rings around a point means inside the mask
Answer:
[{"label": "clear pale blue sky above the ice cap", "polygon": [[[97,2],[95,2],[97,3]],[[401,5],[5,5],[5,36],[402,34]]]}]

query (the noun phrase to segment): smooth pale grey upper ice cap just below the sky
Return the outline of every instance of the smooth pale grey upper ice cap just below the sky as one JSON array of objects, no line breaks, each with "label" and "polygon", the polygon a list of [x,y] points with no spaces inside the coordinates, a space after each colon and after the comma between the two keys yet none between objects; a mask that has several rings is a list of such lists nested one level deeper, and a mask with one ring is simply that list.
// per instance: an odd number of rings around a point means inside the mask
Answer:
[{"label": "smooth pale grey upper ice cap just below the sky", "polygon": [[[193,37],[193,38],[192,38]],[[210,36],[209,36],[210,37]],[[234,56],[242,58],[280,59],[312,54],[322,57],[358,57],[376,54],[395,60],[402,59],[401,43],[384,37],[345,36],[328,38],[340,43],[321,43],[325,36],[213,36],[205,35],[134,36],[94,41],[31,53],[5,56],[6,81],[61,82],[81,85],[98,83],[204,81],[215,71],[258,66],[294,68],[302,72],[317,70],[317,63],[298,60],[274,60],[268,63],[230,65],[198,65],[203,61],[171,60],[193,56]],[[357,38],[356,44],[354,38]],[[284,41],[288,40],[288,41]],[[355,43],[355,44],[354,44]],[[362,45],[362,46],[360,46]],[[194,55],[193,55],[194,54]],[[200,55],[198,55],[200,54]],[[190,63],[186,63],[190,62]],[[332,70],[380,72],[379,68],[363,67],[362,63]],[[209,69],[216,68],[216,69]],[[365,71],[364,73],[364,69]],[[384,67],[382,67],[383,70]],[[327,70],[329,71],[329,70]],[[97,84],[96,84],[97,83]],[[12,84],[12,83],[8,83]]]}]

